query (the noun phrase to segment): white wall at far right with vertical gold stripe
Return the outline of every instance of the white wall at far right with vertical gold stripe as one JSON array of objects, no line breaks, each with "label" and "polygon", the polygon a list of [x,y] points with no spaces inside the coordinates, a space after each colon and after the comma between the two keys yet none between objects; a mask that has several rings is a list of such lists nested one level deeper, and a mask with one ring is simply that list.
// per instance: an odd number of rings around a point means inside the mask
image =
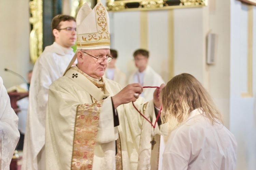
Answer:
[{"label": "white wall at far right with vertical gold stripe", "polygon": [[[256,7],[231,1],[230,34],[230,130],[238,142],[237,170],[256,167]],[[249,14],[253,21],[250,26]],[[252,28],[250,34],[249,28]],[[252,47],[248,38],[252,38]],[[252,51],[252,62],[247,63]],[[248,68],[252,68],[252,73]],[[252,92],[248,85],[252,85]],[[245,95],[247,94],[247,95]]]}]

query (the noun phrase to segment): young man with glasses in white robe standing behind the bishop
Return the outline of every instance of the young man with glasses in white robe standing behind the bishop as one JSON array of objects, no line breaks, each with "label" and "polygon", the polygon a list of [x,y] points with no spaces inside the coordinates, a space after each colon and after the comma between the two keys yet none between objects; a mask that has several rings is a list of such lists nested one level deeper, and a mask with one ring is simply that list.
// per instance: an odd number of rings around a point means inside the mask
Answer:
[{"label": "young man with glasses in white robe standing behind the bishop", "polygon": [[45,47],[33,68],[29,89],[29,108],[23,147],[23,170],[45,169],[45,115],[48,89],[61,77],[74,56],[75,18],[59,14],[52,20],[55,41]]}]

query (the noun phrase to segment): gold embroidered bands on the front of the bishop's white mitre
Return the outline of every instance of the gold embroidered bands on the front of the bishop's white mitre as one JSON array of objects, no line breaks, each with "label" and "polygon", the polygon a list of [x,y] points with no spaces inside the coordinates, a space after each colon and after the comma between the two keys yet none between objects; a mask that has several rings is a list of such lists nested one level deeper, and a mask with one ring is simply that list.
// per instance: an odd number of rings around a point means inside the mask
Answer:
[{"label": "gold embroidered bands on the front of the bishop's white mitre", "polygon": [[95,7],[95,16],[97,32],[88,34],[78,34],[77,38],[79,41],[77,41],[76,43],[77,47],[95,47],[104,45],[110,46],[108,13],[101,3]]}]

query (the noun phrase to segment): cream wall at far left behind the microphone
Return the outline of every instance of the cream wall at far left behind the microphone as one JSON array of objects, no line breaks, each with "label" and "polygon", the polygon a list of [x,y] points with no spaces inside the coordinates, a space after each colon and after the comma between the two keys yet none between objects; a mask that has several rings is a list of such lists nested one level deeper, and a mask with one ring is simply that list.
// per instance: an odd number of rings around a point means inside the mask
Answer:
[{"label": "cream wall at far left behind the microphone", "polygon": [[9,88],[23,83],[8,68],[27,78],[32,69],[29,58],[29,0],[0,0],[0,76]]}]

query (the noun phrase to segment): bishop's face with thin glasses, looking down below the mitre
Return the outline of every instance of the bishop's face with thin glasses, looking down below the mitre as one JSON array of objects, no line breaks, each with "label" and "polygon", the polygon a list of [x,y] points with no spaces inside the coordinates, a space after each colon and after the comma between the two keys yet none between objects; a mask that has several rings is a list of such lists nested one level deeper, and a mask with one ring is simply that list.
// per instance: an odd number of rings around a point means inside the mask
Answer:
[{"label": "bishop's face with thin glasses, looking down below the mitre", "polygon": [[[87,54],[86,54],[87,53]],[[105,73],[107,60],[101,63],[97,62],[99,57],[107,57],[110,54],[109,49],[96,50],[78,50],[77,51],[77,67],[92,78],[100,79]],[[92,56],[97,58],[94,58]]]}]

